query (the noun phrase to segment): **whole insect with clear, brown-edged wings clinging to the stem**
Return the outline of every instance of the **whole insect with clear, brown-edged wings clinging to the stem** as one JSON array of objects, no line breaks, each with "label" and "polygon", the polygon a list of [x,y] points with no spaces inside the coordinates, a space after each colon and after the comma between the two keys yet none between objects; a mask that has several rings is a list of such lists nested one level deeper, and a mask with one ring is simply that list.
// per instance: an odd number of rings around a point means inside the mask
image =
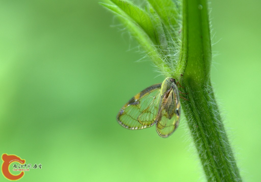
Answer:
[{"label": "whole insect with clear, brown-edged wings clinging to the stem", "polygon": [[124,128],[138,130],[156,125],[159,136],[166,138],[179,126],[180,97],[174,78],[147,87],[127,102],[117,115]]}]

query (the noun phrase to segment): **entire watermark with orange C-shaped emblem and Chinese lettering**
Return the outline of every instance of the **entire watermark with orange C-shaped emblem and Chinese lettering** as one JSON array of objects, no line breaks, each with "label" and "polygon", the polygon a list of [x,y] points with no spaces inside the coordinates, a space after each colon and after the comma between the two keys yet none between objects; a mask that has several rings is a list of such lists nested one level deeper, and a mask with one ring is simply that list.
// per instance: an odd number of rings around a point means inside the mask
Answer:
[{"label": "entire watermark with orange C-shaped emblem and Chinese lettering", "polygon": [[[2,174],[4,177],[11,181],[17,181],[25,175],[25,171],[30,169],[41,169],[42,165],[40,164],[26,164],[25,159],[21,159],[19,156],[11,154],[2,154]],[[20,172],[19,174],[13,174],[10,172],[10,168],[13,167],[15,173]]]}]

